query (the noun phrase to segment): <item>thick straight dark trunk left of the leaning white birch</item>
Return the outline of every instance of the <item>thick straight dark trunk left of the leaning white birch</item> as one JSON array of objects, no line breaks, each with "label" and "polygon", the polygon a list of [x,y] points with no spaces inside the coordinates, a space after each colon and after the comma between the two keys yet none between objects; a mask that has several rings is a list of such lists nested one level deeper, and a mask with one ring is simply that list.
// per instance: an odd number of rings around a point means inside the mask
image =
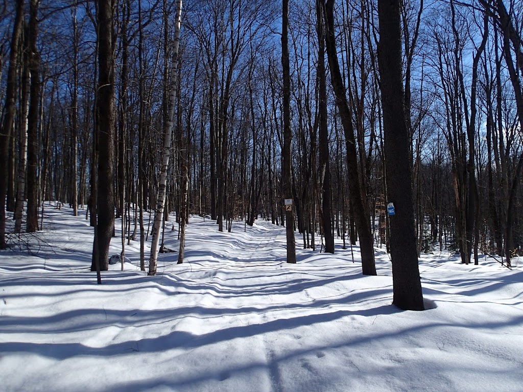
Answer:
[{"label": "thick straight dark trunk left of the leaning white birch", "polygon": [[[100,270],[109,269],[108,253],[115,225],[115,67],[113,59],[112,0],[97,0],[98,96],[96,102],[98,129],[97,230]],[[94,202],[94,201],[93,201]],[[91,270],[96,270],[93,255]]]}]

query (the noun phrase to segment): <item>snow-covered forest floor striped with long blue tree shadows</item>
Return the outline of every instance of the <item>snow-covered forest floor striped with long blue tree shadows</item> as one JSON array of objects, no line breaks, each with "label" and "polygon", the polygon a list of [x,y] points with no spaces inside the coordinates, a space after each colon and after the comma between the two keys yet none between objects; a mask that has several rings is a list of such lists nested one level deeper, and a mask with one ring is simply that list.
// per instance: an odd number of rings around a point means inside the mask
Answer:
[{"label": "snow-covered forest floor striped with long blue tree shadows", "polygon": [[523,391],[521,261],[423,255],[430,309],[405,312],[379,249],[379,276],[339,244],[291,265],[282,227],[191,217],[184,264],[146,276],[137,241],[97,285],[85,216],[46,207],[32,255],[0,252],[2,391]]}]

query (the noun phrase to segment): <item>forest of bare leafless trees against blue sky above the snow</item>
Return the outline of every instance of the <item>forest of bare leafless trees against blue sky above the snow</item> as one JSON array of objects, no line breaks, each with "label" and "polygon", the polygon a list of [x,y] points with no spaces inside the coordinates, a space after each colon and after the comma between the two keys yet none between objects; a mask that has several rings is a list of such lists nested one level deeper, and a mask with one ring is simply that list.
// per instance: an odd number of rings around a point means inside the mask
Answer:
[{"label": "forest of bare leafless trees against blue sky above the snow", "polygon": [[523,252],[523,3],[393,2],[381,44],[381,0],[285,0],[283,18],[279,2],[187,1],[181,34],[178,3],[2,3],[0,248],[45,228],[53,200],[95,227],[93,270],[115,225],[145,270],[145,241],[164,248],[155,211],[182,233],[198,214],[220,231],[285,224],[325,252],[359,241],[370,275],[410,206],[417,255]]}]

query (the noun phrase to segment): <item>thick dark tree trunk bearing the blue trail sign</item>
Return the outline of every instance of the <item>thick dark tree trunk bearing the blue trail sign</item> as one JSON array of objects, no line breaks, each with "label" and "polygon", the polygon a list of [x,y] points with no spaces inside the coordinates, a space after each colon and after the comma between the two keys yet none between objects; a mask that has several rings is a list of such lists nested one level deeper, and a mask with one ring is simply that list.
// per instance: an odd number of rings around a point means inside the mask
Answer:
[{"label": "thick dark tree trunk bearing the blue trail sign", "polygon": [[403,108],[400,1],[379,0],[378,63],[383,110],[384,154],[390,218],[393,304],[424,310],[412,206],[409,135]]}]

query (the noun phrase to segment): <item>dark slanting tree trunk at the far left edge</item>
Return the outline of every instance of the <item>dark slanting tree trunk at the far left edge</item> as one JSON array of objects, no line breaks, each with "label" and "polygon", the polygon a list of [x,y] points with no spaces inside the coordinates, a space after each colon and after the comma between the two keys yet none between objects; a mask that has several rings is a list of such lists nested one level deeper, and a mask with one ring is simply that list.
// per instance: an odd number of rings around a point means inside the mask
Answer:
[{"label": "dark slanting tree trunk at the far left edge", "polygon": [[12,138],[13,123],[16,110],[16,72],[18,68],[18,48],[24,23],[24,0],[16,2],[16,16],[11,38],[9,54],[9,68],[7,71],[7,88],[5,93],[4,122],[0,132],[0,249],[5,249],[5,197],[7,194],[7,159],[9,156],[9,142]]}]

